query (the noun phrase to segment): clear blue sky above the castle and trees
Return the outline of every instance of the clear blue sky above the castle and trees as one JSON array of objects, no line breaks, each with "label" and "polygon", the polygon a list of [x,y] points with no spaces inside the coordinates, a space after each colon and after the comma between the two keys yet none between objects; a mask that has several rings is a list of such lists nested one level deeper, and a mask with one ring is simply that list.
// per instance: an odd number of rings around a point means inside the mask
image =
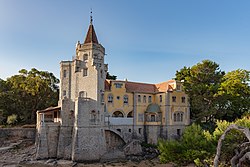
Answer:
[{"label": "clear blue sky above the castle and trees", "polygon": [[93,11],[109,72],[159,83],[212,60],[250,70],[249,0],[0,0],[0,78],[37,68],[60,76]]}]

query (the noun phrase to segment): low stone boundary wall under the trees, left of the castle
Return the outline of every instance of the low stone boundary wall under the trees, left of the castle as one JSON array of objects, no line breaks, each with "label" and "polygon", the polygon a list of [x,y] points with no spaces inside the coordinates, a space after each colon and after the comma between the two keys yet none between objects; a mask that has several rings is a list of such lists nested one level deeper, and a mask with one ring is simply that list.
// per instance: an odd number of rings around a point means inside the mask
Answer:
[{"label": "low stone boundary wall under the trees, left of the castle", "polygon": [[36,128],[0,128],[0,139],[20,138],[35,141]]}]

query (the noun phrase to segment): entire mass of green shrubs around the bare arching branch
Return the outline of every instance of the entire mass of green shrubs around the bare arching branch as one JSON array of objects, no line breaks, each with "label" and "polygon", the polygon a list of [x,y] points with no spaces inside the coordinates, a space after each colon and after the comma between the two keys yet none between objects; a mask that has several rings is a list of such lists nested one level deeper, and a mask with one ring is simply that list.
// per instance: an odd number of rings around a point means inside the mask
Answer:
[{"label": "entire mass of green shrubs around the bare arching branch", "polygon": [[[216,154],[217,142],[227,127],[237,124],[250,128],[249,116],[234,122],[217,121],[216,128],[211,134],[201,126],[192,124],[188,126],[179,141],[159,140],[160,161],[162,163],[173,162],[178,166],[195,163],[196,166],[212,166]],[[248,141],[245,135],[238,130],[231,130],[223,141],[220,156],[221,166],[230,166],[230,160],[239,146]]]}]

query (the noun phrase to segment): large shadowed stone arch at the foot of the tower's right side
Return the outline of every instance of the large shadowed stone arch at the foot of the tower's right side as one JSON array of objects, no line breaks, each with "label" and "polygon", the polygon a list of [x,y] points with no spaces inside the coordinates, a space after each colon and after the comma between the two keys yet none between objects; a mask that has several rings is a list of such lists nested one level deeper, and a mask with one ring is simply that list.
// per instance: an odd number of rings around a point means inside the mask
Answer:
[{"label": "large shadowed stone arch at the foot of the tower's right side", "polygon": [[120,135],[111,130],[105,130],[105,139],[107,151],[121,149],[126,144]]}]

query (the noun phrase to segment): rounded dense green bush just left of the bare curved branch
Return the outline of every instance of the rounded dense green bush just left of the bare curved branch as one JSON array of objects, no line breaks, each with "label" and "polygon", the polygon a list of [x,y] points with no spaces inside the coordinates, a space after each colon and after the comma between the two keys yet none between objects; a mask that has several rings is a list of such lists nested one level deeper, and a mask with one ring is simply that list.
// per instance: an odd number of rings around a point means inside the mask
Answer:
[{"label": "rounded dense green bush just left of the bare curved branch", "polygon": [[211,134],[196,124],[185,129],[180,141],[160,140],[158,143],[160,161],[162,163],[174,162],[178,165],[210,158],[215,148]]}]

